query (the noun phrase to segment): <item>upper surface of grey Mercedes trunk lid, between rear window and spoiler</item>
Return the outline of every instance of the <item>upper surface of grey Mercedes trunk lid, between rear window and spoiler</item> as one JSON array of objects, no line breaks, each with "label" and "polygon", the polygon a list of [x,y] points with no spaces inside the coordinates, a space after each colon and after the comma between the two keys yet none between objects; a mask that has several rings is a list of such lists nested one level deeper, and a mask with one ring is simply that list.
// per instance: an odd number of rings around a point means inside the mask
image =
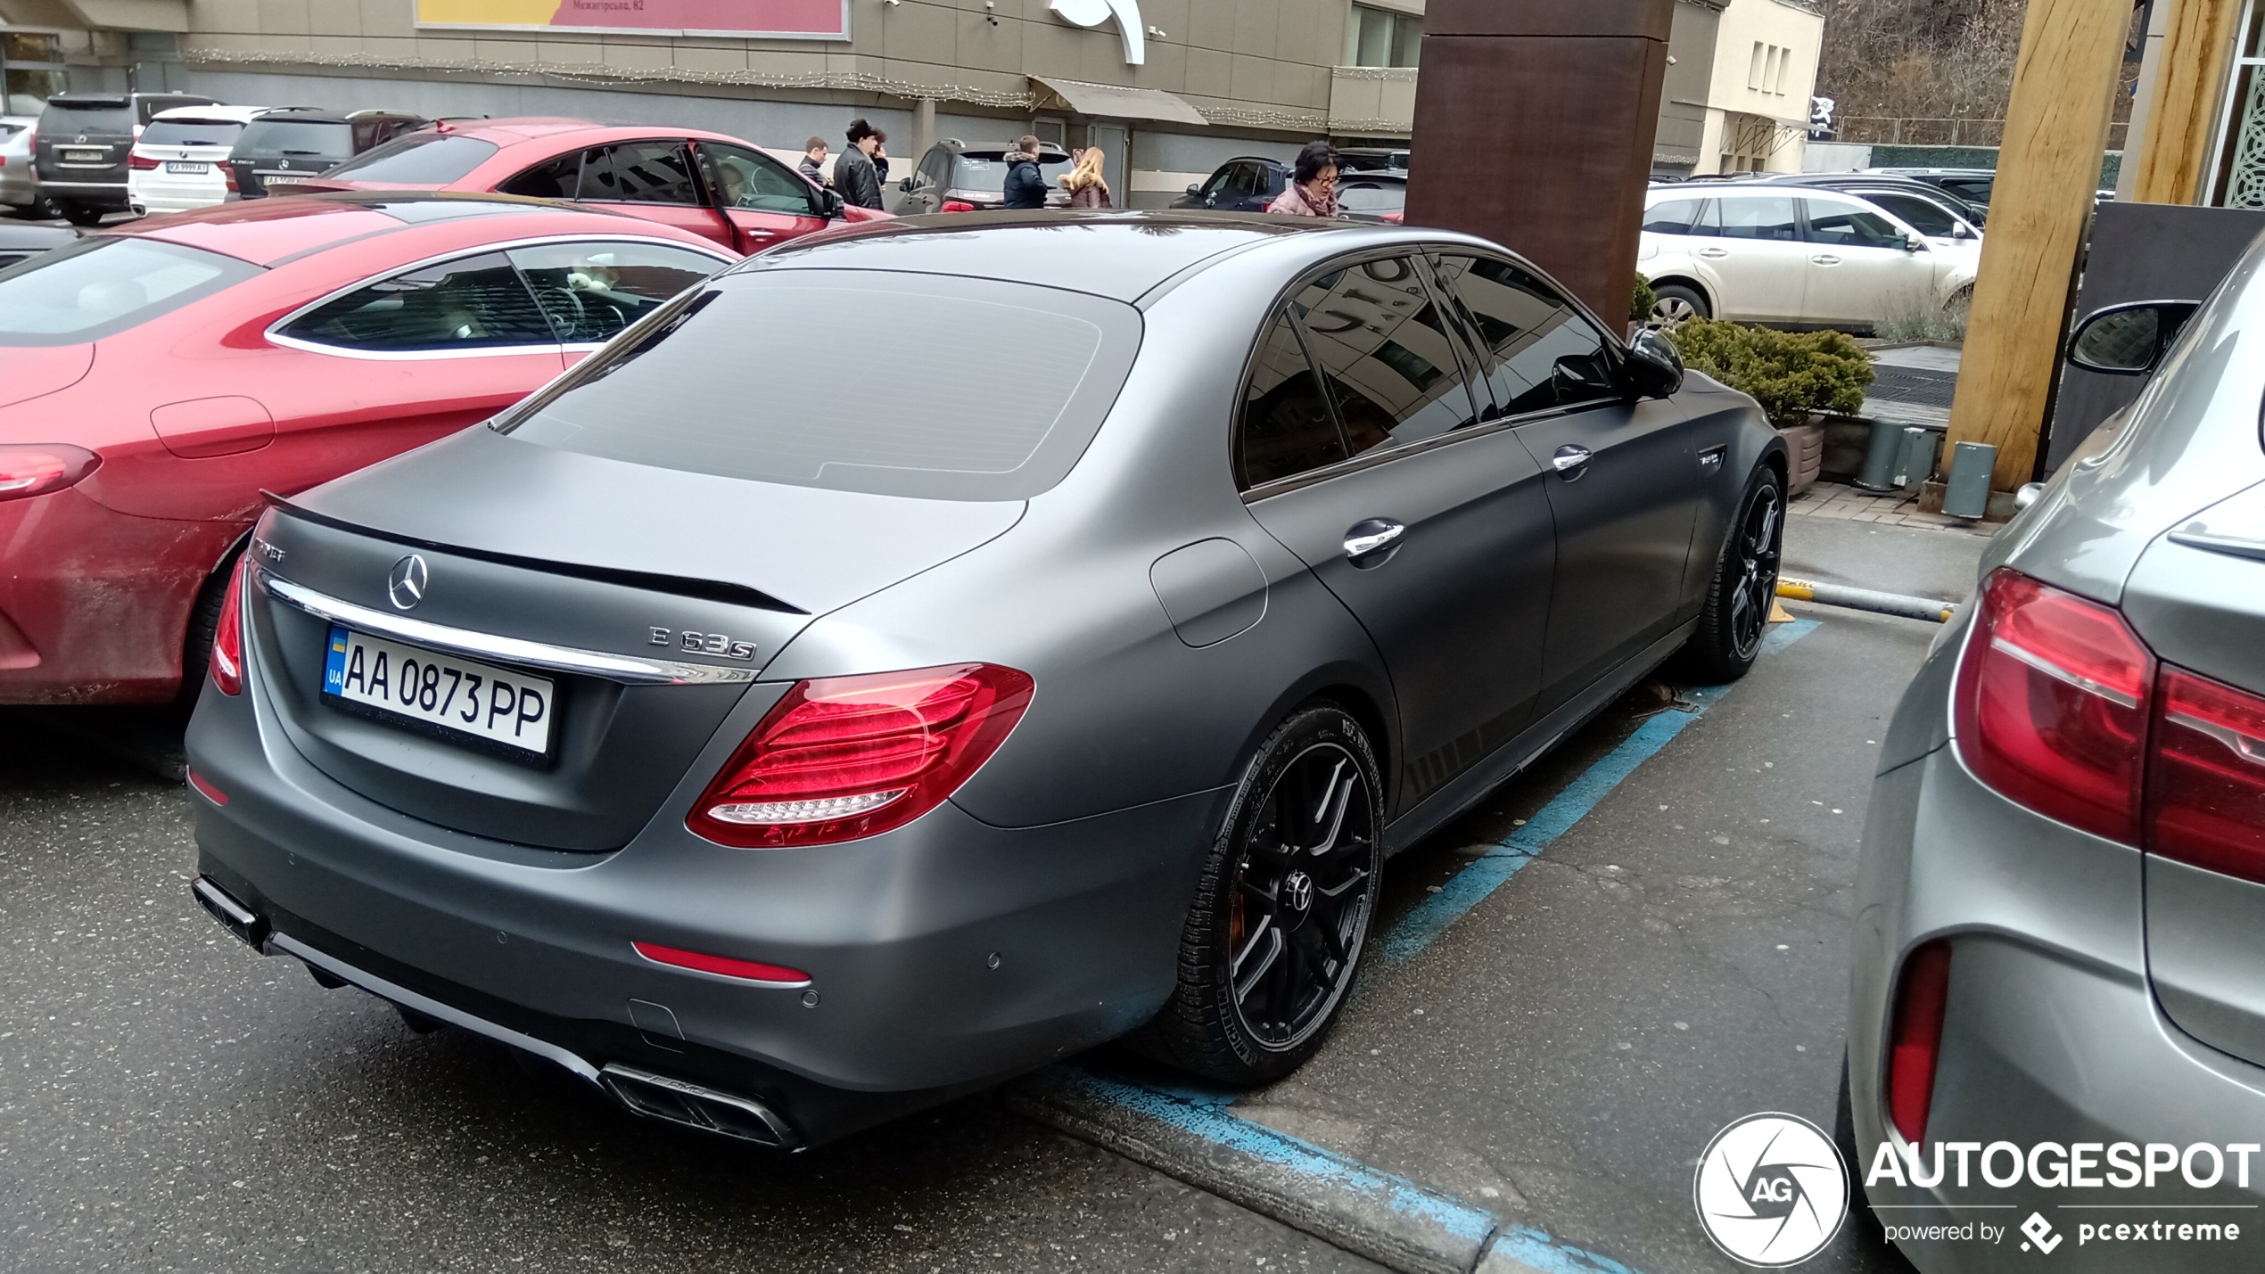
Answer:
[{"label": "upper surface of grey Mercedes trunk lid, between rear window and spoiler", "polygon": [[1022,500],[911,500],[655,468],[487,425],[292,507],[435,548],[736,584],[813,616],[981,548],[1024,514]]}]

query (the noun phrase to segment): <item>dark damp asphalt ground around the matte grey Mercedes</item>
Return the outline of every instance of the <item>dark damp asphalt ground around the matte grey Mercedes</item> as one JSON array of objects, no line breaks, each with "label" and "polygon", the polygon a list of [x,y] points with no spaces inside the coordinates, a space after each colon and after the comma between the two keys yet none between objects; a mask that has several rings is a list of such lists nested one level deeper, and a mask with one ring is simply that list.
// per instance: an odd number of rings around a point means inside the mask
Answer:
[{"label": "dark damp asphalt ground around the matte grey Mercedes", "polygon": [[[1789,534],[1794,575],[1952,600],[1984,548]],[[1379,935],[1644,722],[1703,706],[1515,876],[1377,959],[1320,1057],[1232,1111],[1642,1274],[1737,1269],[1694,1222],[1692,1165],[1753,1111],[1830,1127],[1875,740],[1934,636],[1796,611],[1821,622],[1733,690],[1638,688],[1393,860]],[[0,711],[0,1267],[1375,1269],[990,1095],[777,1159],[414,1034],[195,907],[156,738],[147,717]],[[1846,1226],[1810,1267],[1900,1258]]]}]

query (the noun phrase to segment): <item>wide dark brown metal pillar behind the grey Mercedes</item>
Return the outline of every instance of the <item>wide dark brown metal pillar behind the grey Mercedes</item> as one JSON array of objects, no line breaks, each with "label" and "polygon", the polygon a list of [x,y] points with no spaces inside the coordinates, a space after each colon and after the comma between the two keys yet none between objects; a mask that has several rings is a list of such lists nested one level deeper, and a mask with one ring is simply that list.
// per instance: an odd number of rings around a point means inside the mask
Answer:
[{"label": "wide dark brown metal pillar behind the grey Mercedes", "polygon": [[1486,235],[1629,315],[1674,0],[1431,0],[1411,226]]}]

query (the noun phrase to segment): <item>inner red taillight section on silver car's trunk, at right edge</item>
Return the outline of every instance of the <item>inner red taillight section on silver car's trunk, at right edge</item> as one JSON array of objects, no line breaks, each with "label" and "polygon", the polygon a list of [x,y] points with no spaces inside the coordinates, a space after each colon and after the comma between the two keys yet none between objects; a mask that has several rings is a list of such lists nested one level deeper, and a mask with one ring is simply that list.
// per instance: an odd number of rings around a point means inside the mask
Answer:
[{"label": "inner red taillight section on silver car's trunk, at right edge", "polygon": [[2265,880],[2265,699],[2163,668],[2147,767],[2147,849]]}]

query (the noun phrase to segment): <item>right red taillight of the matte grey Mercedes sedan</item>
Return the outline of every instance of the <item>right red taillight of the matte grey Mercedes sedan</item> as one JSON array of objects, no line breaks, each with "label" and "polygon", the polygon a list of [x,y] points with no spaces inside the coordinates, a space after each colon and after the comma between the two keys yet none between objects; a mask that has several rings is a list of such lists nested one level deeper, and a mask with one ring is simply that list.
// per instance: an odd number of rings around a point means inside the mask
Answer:
[{"label": "right red taillight of the matte grey Mercedes sedan", "polygon": [[990,663],[800,681],[686,819],[741,849],[834,844],[917,819],[1022,720],[1031,677]]}]

